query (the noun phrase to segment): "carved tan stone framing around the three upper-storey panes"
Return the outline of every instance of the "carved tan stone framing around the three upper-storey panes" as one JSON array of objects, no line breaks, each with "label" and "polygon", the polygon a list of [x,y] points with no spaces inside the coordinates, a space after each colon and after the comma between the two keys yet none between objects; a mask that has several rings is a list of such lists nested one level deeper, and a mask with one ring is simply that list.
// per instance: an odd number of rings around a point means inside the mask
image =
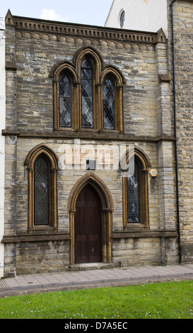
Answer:
[{"label": "carved tan stone framing around the three upper-storey panes", "polygon": [[[84,123],[84,119],[88,116],[83,100],[83,78],[81,79],[81,64],[84,57],[89,57],[93,64],[92,78],[87,83],[92,84],[92,95],[90,94],[90,118],[92,120],[88,124]],[[91,67],[90,67],[91,69]],[[88,69],[89,70],[89,69]],[[59,77],[62,72],[69,74],[71,78],[71,103],[68,108],[64,108],[59,99]],[[104,119],[107,120],[107,115],[103,118],[103,79],[105,75],[110,74],[115,80],[115,110],[113,109],[113,124],[109,128],[104,125]],[[54,131],[62,130],[99,130],[109,132],[109,130],[123,132],[123,85],[125,83],[124,76],[114,66],[104,66],[103,58],[100,52],[95,47],[85,45],[81,47],[74,55],[73,62],[59,62],[53,67],[50,77],[53,80],[53,101],[54,101]],[[92,82],[91,82],[92,80]],[[85,81],[85,80],[84,80]],[[84,82],[85,83],[85,82]],[[69,97],[69,96],[68,96]],[[66,102],[67,103],[67,102]],[[60,108],[62,112],[60,112]],[[114,106],[113,106],[114,108]],[[68,109],[68,111],[66,111]],[[68,112],[67,123],[65,123],[64,115]],[[114,114],[115,113],[115,114]],[[70,118],[71,117],[71,118]],[[61,121],[62,120],[62,121]],[[106,121],[107,123],[107,121]]]}]

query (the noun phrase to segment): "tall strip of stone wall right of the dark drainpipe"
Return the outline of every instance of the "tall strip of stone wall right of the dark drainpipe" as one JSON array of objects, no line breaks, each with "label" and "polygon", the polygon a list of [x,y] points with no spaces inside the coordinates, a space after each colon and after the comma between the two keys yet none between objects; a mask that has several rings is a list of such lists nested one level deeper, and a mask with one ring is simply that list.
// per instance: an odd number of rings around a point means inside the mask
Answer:
[{"label": "tall strip of stone wall right of the dark drainpipe", "polygon": [[[170,14],[168,1],[168,15]],[[175,50],[175,91],[177,121],[177,159],[180,203],[180,239],[182,262],[193,259],[193,173],[192,173],[192,106],[193,106],[193,50],[192,50],[192,1],[176,1],[173,5],[174,50]],[[171,21],[169,18],[169,38],[171,40]],[[172,50],[170,43],[169,60],[172,69]],[[172,74],[172,72],[171,72]],[[172,95],[171,95],[172,96]]]}]

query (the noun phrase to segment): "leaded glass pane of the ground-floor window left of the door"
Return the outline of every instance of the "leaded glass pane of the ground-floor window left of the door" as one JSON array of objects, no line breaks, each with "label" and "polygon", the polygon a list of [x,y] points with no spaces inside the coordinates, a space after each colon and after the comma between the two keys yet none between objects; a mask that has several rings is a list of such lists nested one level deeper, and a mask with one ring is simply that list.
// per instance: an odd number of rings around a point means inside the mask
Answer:
[{"label": "leaded glass pane of the ground-floor window left of the door", "polygon": [[34,167],[34,224],[49,224],[48,165],[38,157]]}]

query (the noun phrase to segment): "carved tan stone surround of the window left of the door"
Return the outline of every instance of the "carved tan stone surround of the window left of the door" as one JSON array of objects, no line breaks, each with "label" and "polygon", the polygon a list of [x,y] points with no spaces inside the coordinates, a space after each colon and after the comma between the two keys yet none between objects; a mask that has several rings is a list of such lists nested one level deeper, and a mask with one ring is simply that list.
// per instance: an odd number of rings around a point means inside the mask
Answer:
[{"label": "carved tan stone surround of the window left of the door", "polygon": [[[38,157],[44,157],[48,163],[49,179],[49,220],[47,225],[35,225],[35,162]],[[25,159],[28,166],[28,232],[45,230],[46,232],[57,231],[57,169],[58,157],[51,148],[45,144],[34,147]]]}]

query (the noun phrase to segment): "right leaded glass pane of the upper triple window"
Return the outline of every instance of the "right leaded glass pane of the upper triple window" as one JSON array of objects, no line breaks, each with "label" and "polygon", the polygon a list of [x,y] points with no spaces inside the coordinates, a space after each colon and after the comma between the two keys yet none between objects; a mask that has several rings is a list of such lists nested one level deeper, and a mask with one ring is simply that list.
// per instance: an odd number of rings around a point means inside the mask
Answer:
[{"label": "right leaded glass pane of the upper triple window", "polygon": [[110,77],[103,80],[103,128],[115,130],[115,86]]}]

